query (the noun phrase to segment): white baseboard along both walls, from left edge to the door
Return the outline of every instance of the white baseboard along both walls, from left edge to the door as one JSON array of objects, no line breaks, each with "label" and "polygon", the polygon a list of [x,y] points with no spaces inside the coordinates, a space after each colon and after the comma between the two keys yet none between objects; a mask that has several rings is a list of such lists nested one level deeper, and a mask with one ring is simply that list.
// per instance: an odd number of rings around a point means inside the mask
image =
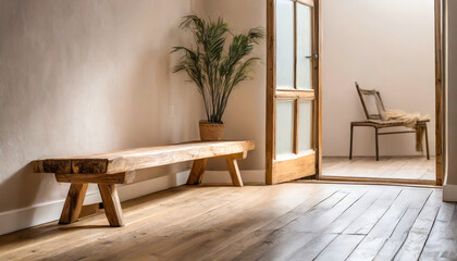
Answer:
[{"label": "white baseboard along both walls, from left edge to the door", "polygon": [[[188,175],[189,171],[184,171],[174,175],[118,186],[119,197],[121,201],[125,201],[181,186],[186,184]],[[242,171],[242,177],[245,183],[264,183],[264,171]],[[232,181],[227,171],[207,171],[203,183],[232,184]],[[59,220],[64,201],[65,199],[61,199],[0,213],[0,224],[2,224],[0,226],[0,235]],[[86,195],[84,204],[97,202],[101,202],[101,198],[98,190],[94,189]]]}]

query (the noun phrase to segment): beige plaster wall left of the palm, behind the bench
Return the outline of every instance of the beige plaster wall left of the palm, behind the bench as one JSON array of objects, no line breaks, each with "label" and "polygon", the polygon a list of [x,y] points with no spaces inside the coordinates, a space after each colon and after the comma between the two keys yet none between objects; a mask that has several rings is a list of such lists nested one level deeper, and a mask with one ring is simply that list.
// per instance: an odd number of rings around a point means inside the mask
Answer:
[{"label": "beige plaster wall left of the palm, behind the bench", "polygon": [[64,199],[35,159],[198,138],[200,97],[170,73],[190,12],[190,0],[0,1],[0,214]]}]

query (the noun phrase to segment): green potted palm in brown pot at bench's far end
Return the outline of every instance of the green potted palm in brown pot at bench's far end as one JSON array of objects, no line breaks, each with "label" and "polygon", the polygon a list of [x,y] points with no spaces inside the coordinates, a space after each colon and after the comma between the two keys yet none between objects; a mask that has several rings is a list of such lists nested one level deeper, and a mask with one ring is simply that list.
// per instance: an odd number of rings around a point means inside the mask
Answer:
[{"label": "green potted palm in brown pot at bench's far end", "polygon": [[193,33],[195,46],[173,48],[172,52],[182,53],[173,72],[184,71],[202,97],[207,120],[200,121],[201,140],[221,140],[228,97],[239,83],[250,78],[252,64],[259,60],[251,52],[264,32],[257,27],[234,35],[223,18],[211,21],[196,15],[185,16],[181,28]]}]

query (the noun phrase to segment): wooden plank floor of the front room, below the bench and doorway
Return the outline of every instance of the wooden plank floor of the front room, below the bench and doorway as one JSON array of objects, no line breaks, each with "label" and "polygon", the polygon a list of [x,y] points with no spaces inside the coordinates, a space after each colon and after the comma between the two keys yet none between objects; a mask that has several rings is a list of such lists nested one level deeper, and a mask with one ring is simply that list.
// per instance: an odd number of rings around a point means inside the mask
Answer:
[{"label": "wooden plank floor of the front room, below the bench and doorway", "polygon": [[103,213],[0,237],[0,260],[457,260],[442,190],[291,183],[182,186]]}]

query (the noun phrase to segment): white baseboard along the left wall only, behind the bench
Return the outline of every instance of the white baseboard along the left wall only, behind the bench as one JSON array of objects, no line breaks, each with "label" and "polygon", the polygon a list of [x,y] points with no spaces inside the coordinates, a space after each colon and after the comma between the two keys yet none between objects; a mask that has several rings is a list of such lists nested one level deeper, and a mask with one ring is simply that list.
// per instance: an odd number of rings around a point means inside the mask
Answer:
[{"label": "white baseboard along the left wall only, behind the bench", "polygon": [[[189,171],[184,171],[174,175],[166,175],[140,183],[119,186],[119,197],[121,201],[125,201],[180,186],[186,183],[188,174]],[[59,220],[64,201],[65,199],[61,199],[0,213],[0,224],[2,224],[0,226],[0,235]],[[98,190],[86,195],[84,204],[97,202],[101,202]]]}]

